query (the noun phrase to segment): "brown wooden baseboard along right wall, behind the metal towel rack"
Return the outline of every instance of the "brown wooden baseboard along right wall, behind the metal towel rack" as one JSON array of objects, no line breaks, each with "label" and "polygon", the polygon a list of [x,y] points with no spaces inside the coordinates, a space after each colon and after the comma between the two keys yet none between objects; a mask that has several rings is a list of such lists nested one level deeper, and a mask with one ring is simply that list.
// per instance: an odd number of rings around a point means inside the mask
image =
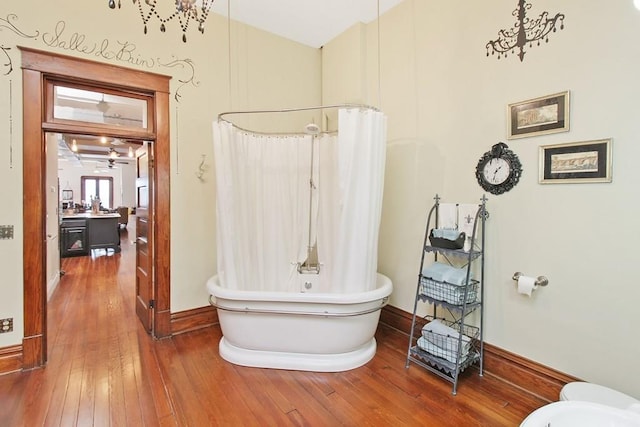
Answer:
[{"label": "brown wooden baseboard along right wall, behind the metal towel rack", "polygon": [[[406,334],[411,332],[412,314],[387,305],[380,313],[384,323]],[[476,367],[477,369],[477,367]],[[549,368],[518,354],[484,343],[484,373],[509,383],[546,402],[558,400],[560,389],[579,378]]]}]

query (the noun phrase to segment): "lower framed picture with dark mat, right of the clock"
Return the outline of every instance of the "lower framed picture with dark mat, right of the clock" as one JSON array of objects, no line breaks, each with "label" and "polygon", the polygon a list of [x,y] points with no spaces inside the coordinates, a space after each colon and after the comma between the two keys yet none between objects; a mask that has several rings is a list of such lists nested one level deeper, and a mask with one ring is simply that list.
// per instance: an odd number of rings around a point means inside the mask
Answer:
[{"label": "lower framed picture with dark mat, right of the clock", "polygon": [[611,182],[611,139],[541,146],[539,182]]}]

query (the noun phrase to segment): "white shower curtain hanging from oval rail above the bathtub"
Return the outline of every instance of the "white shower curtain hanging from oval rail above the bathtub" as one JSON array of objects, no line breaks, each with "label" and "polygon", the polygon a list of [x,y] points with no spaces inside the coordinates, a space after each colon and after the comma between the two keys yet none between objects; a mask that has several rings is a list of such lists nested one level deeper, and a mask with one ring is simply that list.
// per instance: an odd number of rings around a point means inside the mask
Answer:
[{"label": "white shower curtain hanging from oval rail above the bathtub", "polygon": [[[386,119],[339,111],[338,136],[265,136],[213,125],[218,275],[228,288],[297,290],[297,263],[317,239],[321,288],[375,288]],[[311,146],[314,176],[310,189]]]}]

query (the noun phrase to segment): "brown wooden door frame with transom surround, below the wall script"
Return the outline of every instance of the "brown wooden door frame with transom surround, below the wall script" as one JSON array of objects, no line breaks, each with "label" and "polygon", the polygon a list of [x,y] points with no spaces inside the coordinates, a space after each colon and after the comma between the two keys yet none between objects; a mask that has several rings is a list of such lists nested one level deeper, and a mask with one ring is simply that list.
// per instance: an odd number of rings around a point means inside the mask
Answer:
[{"label": "brown wooden door frame with transom surround, below the wall script", "polygon": [[[23,273],[24,338],[22,368],[43,366],[47,361],[46,280],[46,176],[45,133],[68,130],[51,126],[45,118],[45,79],[78,82],[114,89],[135,90],[153,96],[155,121],[153,190],[155,227],[153,272],[155,316],[153,335],[171,334],[170,311],[170,77],[53,54],[18,46],[22,53],[23,88]],[[77,130],[77,127],[76,127]],[[87,126],[87,131],[91,126]],[[95,128],[93,131],[95,132]],[[132,295],[133,298],[133,295]],[[81,327],[81,325],[78,325]]]}]

